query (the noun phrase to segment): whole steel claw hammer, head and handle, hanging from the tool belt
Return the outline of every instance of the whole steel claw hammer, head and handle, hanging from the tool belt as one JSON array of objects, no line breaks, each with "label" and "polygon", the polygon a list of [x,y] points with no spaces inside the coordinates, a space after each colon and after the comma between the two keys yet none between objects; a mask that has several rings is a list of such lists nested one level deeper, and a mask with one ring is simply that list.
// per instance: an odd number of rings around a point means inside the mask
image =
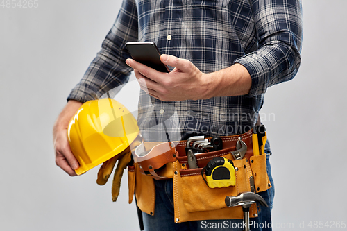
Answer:
[{"label": "whole steel claw hammer, head and handle, hanging from the tool belt", "polygon": [[227,207],[242,206],[242,211],[244,212],[244,231],[249,231],[249,207],[255,201],[258,201],[262,206],[269,207],[262,196],[253,192],[244,192],[237,196],[226,196]]}]

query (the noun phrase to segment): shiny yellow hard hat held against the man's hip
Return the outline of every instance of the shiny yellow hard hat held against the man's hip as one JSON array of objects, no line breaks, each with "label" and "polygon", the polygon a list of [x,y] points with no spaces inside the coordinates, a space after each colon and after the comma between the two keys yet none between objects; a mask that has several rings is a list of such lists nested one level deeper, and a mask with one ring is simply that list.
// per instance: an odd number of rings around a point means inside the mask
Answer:
[{"label": "shiny yellow hard hat held against the man's hip", "polygon": [[139,135],[133,114],[114,99],[87,101],[71,118],[67,137],[81,175],[124,151]]}]

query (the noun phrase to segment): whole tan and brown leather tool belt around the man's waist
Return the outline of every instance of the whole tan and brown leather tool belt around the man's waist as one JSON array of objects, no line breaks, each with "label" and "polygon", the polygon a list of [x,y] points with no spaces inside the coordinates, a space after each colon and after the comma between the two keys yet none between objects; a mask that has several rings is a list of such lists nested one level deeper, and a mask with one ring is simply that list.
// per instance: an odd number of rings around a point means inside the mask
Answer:
[{"label": "whole tan and brown leather tool belt around the man's waist", "polygon": [[[154,179],[173,178],[175,222],[199,221],[209,219],[242,219],[242,207],[226,207],[226,196],[253,191],[266,191],[271,187],[266,171],[264,145],[266,132],[257,137],[257,128],[242,135],[219,137],[223,149],[198,153],[196,168],[189,169],[187,141],[143,143],[137,151],[146,151],[143,157],[135,157],[134,166],[128,166],[129,203],[135,196],[137,206],[143,212],[154,215]],[[208,138],[210,143],[212,138]],[[238,142],[246,144],[244,153],[237,151]],[[194,148],[194,147],[193,147]],[[205,167],[215,157],[225,157],[235,169],[235,185],[211,188],[206,182]],[[257,216],[254,203],[250,217]]]}]

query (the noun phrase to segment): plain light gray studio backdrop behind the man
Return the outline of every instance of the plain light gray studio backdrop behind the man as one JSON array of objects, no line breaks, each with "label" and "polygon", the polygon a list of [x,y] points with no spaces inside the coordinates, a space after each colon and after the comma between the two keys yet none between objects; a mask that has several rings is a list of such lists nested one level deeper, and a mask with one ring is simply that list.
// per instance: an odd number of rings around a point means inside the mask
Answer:
[{"label": "plain light gray studio backdrop behind the man", "polygon": [[[0,0],[0,230],[138,230],[126,177],[117,203],[110,182],[96,185],[98,168],[70,178],[54,163],[51,132],[121,1],[25,2]],[[346,8],[303,0],[301,69],[265,96],[274,230],[343,230],[347,220]],[[119,101],[136,108],[133,92]]]}]

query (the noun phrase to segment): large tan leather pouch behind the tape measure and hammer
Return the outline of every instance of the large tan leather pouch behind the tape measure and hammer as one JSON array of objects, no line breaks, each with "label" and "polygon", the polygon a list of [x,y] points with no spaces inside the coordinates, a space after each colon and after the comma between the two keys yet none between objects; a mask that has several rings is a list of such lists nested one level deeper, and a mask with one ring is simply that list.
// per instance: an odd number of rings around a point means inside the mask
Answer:
[{"label": "large tan leather pouch behind the tape measure and hammer", "polygon": [[[234,149],[235,150],[235,149]],[[218,153],[214,155],[214,153]],[[236,171],[236,185],[221,188],[210,188],[201,176],[202,166],[198,169],[187,169],[187,157],[177,157],[174,162],[174,205],[175,221],[198,221],[208,219],[242,219],[242,207],[226,207],[226,196],[237,196],[246,191],[266,191],[271,187],[266,172],[266,155],[244,157],[234,160],[230,152],[210,152],[208,162],[216,156],[232,160]],[[203,154],[205,155],[205,154]],[[196,155],[199,162],[199,157]],[[201,162],[201,161],[200,161]],[[205,178],[205,174],[203,174]],[[252,187],[252,189],[251,189]],[[250,208],[250,217],[257,216],[256,204]]]}]

